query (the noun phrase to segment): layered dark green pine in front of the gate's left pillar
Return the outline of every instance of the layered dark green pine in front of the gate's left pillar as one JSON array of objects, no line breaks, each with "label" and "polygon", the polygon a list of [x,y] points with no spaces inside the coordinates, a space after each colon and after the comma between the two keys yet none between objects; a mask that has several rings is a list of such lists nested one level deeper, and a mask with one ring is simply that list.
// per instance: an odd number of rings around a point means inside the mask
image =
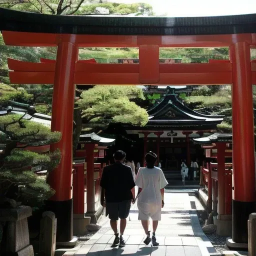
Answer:
[{"label": "layered dark green pine in front of the gate's left pillar", "polygon": [[60,151],[40,154],[16,148],[17,142],[24,146],[50,144],[60,140],[60,132],[51,132],[43,124],[9,113],[0,116],[0,134],[0,143],[6,144],[4,154],[0,155],[0,193],[25,205],[41,205],[54,191],[36,172],[48,173],[55,168]]}]

